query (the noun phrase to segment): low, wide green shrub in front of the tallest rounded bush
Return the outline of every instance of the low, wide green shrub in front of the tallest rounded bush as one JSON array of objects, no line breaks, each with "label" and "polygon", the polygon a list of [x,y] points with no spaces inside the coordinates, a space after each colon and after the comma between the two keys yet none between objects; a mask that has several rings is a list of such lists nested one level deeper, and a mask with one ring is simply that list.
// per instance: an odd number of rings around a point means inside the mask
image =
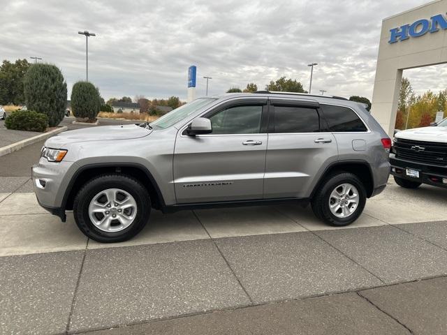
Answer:
[{"label": "low, wide green shrub in front of the tallest rounded bush", "polygon": [[44,132],[48,125],[48,117],[33,110],[16,110],[6,117],[5,126],[15,131]]}]

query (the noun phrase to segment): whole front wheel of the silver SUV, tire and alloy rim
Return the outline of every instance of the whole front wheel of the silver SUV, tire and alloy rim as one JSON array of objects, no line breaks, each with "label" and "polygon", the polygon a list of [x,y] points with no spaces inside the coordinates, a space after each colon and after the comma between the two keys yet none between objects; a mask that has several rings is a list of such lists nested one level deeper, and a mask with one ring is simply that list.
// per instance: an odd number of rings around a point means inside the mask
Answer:
[{"label": "whole front wheel of the silver SUV, tire and alloy rim", "polygon": [[73,204],[79,229],[102,243],[131,239],[145,226],[150,199],[142,184],[122,174],[96,177],[82,186]]}]

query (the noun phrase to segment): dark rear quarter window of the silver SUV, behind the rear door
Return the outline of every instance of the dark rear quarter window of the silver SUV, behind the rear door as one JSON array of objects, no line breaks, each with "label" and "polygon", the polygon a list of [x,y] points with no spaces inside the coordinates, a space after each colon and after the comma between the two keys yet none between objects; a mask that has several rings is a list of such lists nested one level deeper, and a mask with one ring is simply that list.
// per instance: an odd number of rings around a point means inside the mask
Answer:
[{"label": "dark rear quarter window of the silver SUV, behind the rear door", "polygon": [[330,131],[367,131],[365,124],[350,108],[323,105],[323,112]]}]

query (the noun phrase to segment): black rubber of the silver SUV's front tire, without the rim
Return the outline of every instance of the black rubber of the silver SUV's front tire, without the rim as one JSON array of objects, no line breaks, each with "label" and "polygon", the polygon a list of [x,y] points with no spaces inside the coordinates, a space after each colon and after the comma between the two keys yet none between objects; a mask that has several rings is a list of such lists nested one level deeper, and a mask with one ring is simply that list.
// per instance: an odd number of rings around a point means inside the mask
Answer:
[{"label": "black rubber of the silver SUV's front tire, without the rim", "polygon": [[[108,188],[119,188],[128,192],[134,198],[136,216],[129,227],[119,232],[105,232],[91,222],[89,204],[95,195]],[[150,198],[147,189],[132,177],[122,174],[105,174],[87,182],[75,197],[73,214],[79,229],[90,239],[101,243],[122,242],[134,237],[149,221],[151,211]]]}]

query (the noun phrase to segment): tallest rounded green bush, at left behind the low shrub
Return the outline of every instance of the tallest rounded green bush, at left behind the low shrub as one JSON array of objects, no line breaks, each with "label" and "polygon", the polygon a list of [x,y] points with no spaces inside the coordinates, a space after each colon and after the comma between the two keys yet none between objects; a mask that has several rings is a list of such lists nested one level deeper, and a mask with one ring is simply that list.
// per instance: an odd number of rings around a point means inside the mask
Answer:
[{"label": "tallest rounded green bush, at left behind the low shrub", "polygon": [[67,84],[57,66],[30,66],[24,75],[24,96],[28,110],[46,114],[50,127],[57,126],[64,119]]}]

